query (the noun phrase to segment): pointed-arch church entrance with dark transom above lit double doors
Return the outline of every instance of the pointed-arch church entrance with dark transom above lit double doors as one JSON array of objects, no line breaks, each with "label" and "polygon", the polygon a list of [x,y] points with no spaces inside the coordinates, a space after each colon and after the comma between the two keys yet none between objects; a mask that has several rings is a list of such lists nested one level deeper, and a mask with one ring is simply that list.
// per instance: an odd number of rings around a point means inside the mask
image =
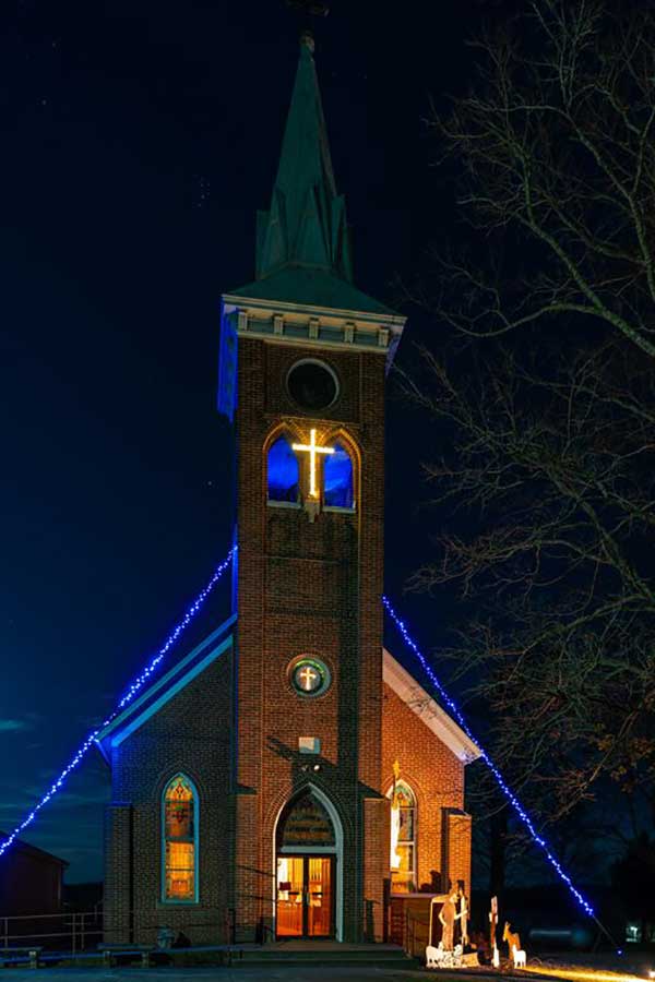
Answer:
[{"label": "pointed-arch church entrance with dark transom above lit double doors", "polygon": [[341,822],[332,802],[308,787],[275,825],[275,934],[342,938]]}]

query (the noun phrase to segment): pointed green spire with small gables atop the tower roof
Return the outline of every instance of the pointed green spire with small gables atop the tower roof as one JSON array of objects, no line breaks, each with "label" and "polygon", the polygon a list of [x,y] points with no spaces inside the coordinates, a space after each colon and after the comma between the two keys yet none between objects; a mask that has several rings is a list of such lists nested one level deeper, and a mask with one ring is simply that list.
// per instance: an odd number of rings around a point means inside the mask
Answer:
[{"label": "pointed green spire with small gables atop the tower roof", "polygon": [[313,38],[308,32],[300,39],[271,208],[258,213],[258,279],[285,266],[353,279],[345,201],[334,182]]}]

